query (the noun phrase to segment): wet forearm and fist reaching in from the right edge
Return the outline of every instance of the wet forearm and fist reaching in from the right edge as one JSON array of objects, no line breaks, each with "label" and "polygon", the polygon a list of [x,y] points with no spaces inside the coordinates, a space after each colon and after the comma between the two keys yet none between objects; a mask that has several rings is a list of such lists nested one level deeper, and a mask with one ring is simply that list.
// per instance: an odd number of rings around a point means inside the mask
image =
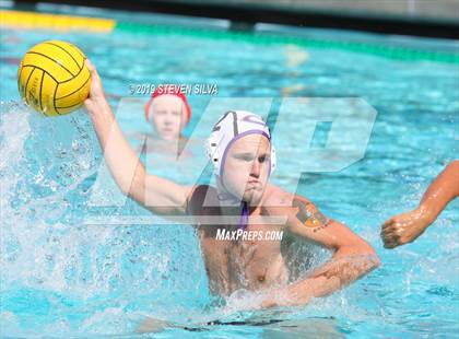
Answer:
[{"label": "wet forearm and fist reaching in from the right edge", "polygon": [[387,220],[381,229],[386,248],[414,242],[459,195],[459,161],[451,162],[434,179],[416,209]]}]

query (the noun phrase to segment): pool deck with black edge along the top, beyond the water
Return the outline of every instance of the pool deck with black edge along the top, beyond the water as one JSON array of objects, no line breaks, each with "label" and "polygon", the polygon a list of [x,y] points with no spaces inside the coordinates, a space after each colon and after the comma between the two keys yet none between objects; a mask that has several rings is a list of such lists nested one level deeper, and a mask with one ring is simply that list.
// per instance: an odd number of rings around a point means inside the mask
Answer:
[{"label": "pool deck with black edge along the top, beyond the water", "polygon": [[[17,0],[34,11],[54,0]],[[60,0],[60,4],[107,9],[103,0]],[[258,23],[365,31],[459,39],[459,0],[111,0],[109,9],[212,17],[234,30]]]}]

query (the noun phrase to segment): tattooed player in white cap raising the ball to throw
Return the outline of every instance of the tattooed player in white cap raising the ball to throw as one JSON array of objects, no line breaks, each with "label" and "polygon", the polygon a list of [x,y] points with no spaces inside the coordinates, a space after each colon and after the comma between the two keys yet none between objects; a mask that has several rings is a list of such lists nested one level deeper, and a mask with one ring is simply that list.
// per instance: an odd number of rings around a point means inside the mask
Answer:
[{"label": "tattooed player in white cap raising the ball to throw", "polygon": [[[208,143],[216,187],[180,186],[145,172],[105,100],[96,69],[90,62],[89,68],[92,86],[85,106],[114,179],[125,195],[156,214],[193,218],[214,294],[260,291],[261,307],[304,305],[378,266],[374,249],[345,225],[321,214],[308,199],[268,183],[275,159],[270,131],[260,117],[226,113]],[[273,231],[329,248],[332,258],[292,282],[281,241],[257,236]],[[236,234],[248,236],[235,238]]]}]

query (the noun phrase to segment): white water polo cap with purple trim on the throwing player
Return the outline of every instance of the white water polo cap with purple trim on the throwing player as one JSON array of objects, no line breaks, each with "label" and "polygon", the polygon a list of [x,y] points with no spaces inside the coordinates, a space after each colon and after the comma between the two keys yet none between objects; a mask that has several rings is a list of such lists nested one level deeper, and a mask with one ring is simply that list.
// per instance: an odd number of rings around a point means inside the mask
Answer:
[{"label": "white water polo cap with purple trim on the throwing player", "polygon": [[[261,135],[271,143],[271,132],[263,119],[247,110],[228,110],[215,124],[207,142],[207,155],[215,175],[223,177],[223,168],[231,145],[247,135]],[[275,150],[271,143],[270,174],[275,170]]]}]

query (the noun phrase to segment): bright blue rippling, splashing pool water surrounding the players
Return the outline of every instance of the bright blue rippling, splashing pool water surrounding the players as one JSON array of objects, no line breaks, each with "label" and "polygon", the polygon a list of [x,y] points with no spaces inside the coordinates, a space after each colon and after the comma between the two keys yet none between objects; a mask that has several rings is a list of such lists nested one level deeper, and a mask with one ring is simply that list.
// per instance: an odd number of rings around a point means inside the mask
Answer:
[{"label": "bright blue rippling, splashing pool water surrounding the players", "polygon": [[[395,37],[304,32],[387,48],[400,44]],[[381,267],[305,307],[247,312],[256,295],[214,303],[190,226],[89,224],[91,217],[149,214],[131,201],[122,207],[90,203],[102,154],[85,112],[46,119],[21,103],[17,59],[50,38],[85,51],[114,107],[120,97],[130,97],[129,84],[169,81],[216,83],[219,96],[365,100],[377,117],[364,159],[340,172],[305,173],[298,191],[367,239]],[[414,208],[431,179],[458,156],[458,65],[117,31],[105,35],[3,30],[0,39],[2,337],[132,337],[144,316],[174,324],[158,338],[457,336],[459,201],[417,242],[396,250],[381,246],[379,229],[387,218]],[[456,42],[404,43],[420,49],[458,48]],[[187,135],[210,98],[190,96],[195,114]],[[126,128],[145,128],[139,107],[123,121]],[[293,113],[292,135],[301,133],[298,121],[301,113]],[[195,153],[200,150],[197,147]],[[294,167],[280,167],[279,178],[289,182]],[[163,172],[170,175],[167,168]],[[109,198],[117,196],[114,191]],[[317,262],[327,257],[321,250],[314,254]],[[211,320],[226,325],[205,325]]]}]

